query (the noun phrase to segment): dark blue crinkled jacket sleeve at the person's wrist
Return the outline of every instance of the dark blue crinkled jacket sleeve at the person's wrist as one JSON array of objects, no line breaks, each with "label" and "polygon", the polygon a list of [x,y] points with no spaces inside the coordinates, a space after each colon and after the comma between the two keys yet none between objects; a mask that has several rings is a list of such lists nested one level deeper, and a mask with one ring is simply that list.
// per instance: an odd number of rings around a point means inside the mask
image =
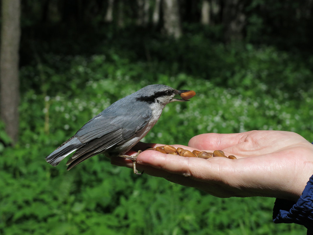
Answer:
[{"label": "dark blue crinkled jacket sleeve at the person's wrist", "polygon": [[274,223],[297,223],[313,234],[313,175],[307,182],[302,195],[295,203],[277,198],[273,209]]}]

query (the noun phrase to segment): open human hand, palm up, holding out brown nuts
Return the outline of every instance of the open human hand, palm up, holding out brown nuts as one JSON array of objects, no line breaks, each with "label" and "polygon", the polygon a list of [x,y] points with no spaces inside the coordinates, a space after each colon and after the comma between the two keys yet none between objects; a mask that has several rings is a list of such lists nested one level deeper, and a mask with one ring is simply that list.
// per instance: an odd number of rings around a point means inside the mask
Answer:
[{"label": "open human hand, palm up, holding out brown nuts", "polygon": [[[161,145],[141,144],[140,147]],[[191,151],[223,150],[237,159],[201,159],[147,150],[137,156],[137,169],[213,196],[267,196],[293,201],[301,196],[313,174],[313,144],[293,132],[207,133],[191,138],[188,147],[172,146]],[[111,161],[132,167],[127,159]]]}]

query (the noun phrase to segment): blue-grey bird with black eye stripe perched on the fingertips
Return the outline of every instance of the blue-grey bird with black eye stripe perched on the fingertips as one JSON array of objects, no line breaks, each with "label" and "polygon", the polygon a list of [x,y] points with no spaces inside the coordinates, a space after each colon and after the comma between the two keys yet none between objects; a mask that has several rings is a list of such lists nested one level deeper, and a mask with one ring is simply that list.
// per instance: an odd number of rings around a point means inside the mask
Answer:
[{"label": "blue-grey bird with black eye stripe perched on the fingertips", "polygon": [[90,119],[74,136],[65,141],[45,159],[56,166],[67,155],[76,151],[67,161],[67,170],[97,154],[121,156],[133,161],[136,170],[136,156],[125,153],[131,150],[156,124],[165,105],[174,101],[188,101],[174,98],[189,90],[176,90],[170,86],[155,84],[143,87],[128,95]]}]

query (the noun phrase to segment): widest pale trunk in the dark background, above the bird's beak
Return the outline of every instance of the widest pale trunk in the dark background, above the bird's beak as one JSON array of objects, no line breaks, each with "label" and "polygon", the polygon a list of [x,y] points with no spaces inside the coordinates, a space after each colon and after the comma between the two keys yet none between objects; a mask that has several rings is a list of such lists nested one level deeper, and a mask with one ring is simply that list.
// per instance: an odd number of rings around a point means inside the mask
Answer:
[{"label": "widest pale trunk in the dark background, above the bird's beak", "polygon": [[163,0],[164,29],[168,36],[175,39],[182,35],[178,0]]}]

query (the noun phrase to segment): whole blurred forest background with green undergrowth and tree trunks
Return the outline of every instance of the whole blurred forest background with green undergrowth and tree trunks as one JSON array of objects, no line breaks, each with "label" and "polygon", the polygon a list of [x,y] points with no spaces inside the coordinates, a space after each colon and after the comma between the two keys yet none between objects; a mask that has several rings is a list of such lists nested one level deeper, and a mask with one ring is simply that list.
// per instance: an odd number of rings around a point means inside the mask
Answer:
[{"label": "whole blurred forest background with green undergrowth and tree trunks", "polygon": [[305,234],[272,222],[275,198],[217,198],[102,155],[70,171],[44,158],[149,84],[197,95],[167,105],[144,142],[253,129],[312,142],[312,9],[312,0],[2,0],[0,234]]}]

